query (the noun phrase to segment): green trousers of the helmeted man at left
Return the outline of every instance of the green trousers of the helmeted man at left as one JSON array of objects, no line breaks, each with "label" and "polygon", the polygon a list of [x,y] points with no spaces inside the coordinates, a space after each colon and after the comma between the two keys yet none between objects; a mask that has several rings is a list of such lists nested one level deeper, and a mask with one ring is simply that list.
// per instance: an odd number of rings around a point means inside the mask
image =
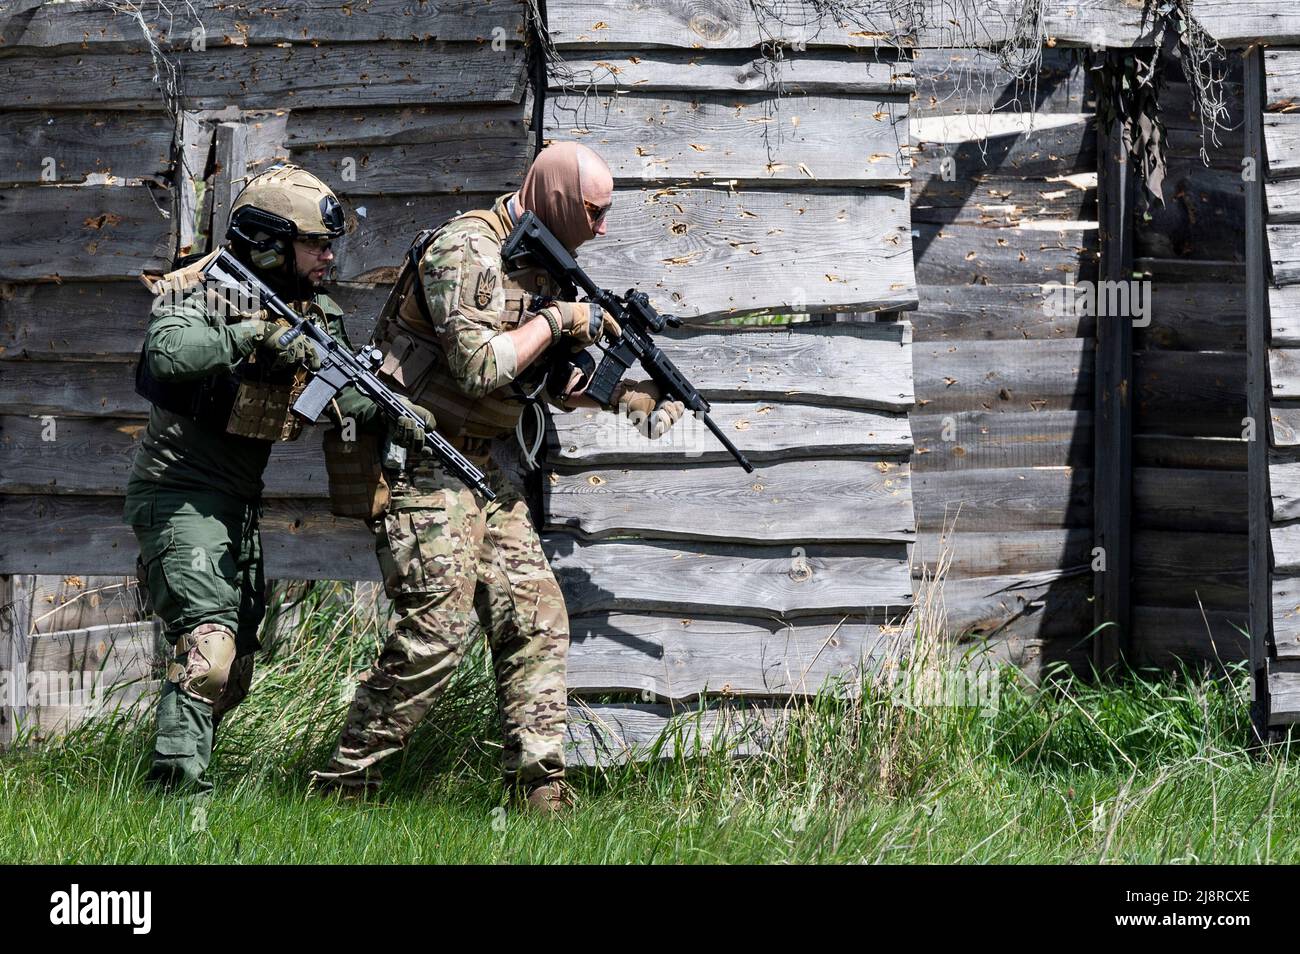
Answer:
[{"label": "green trousers of the helmeted man at left", "polygon": [[[134,483],[125,516],[140,543],[140,580],[176,647],[157,707],[150,777],[211,789],[204,779],[221,717],[248,694],[252,652],[265,615],[260,504],[228,494]],[[187,639],[196,633],[234,636],[229,677],[207,701],[186,680]]]}]

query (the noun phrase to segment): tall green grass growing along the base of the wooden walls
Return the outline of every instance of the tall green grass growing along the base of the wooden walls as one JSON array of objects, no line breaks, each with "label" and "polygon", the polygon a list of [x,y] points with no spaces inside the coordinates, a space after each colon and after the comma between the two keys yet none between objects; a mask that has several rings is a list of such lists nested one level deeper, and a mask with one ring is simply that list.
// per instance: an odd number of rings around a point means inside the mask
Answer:
[{"label": "tall green grass growing along the base of the wooden walls", "polygon": [[[924,599],[897,678],[948,667]],[[1247,676],[1128,672],[998,706],[902,704],[879,675],[790,703],[757,754],[656,755],[573,773],[578,810],[516,815],[498,781],[486,654],[472,652],[377,799],[307,789],[386,620],[347,586],[302,595],[228,719],[213,795],[140,781],[150,719],[103,715],[0,755],[0,860],[14,862],[1296,862],[1284,753],[1251,753]]]}]

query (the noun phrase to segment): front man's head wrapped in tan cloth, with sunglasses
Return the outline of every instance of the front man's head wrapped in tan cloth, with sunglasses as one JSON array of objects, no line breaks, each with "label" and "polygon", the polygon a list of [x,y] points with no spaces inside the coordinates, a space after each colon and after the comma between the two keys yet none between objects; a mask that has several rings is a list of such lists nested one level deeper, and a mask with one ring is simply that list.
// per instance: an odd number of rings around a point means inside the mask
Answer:
[{"label": "front man's head wrapped in tan cloth, with sunglasses", "polygon": [[519,188],[519,204],[534,213],[573,251],[606,233],[603,209],[614,196],[610,166],[581,143],[551,143],[542,149]]}]

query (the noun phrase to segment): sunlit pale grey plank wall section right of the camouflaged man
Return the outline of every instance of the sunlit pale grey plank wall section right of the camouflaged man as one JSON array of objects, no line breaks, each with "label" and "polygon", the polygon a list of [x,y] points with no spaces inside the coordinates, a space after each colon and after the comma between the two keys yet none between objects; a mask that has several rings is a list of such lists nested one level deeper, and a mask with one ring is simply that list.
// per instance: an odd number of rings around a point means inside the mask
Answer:
[{"label": "sunlit pale grey plank wall section right of the camouflaged man", "polygon": [[733,13],[741,29],[699,44],[684,5],[547,4],[563,64],[543,134],[590,144],[616,181],[582,263],[689,320],[673,357],[755,465],[693,420],[655,443],[555,417],[543,508],[582,760],[627,756],[679,703],[745,697],[762,721],[853,680],[896,650],[910,602],[909,325],[710,324],[915,302],[909,69],[842,31],[772,62]]}]

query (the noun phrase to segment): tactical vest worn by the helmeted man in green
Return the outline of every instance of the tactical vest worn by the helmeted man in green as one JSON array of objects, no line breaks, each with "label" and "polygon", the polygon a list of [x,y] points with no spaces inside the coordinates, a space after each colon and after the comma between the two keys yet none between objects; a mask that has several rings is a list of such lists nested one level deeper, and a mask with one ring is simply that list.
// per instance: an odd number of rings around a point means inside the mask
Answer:
[{"label": "tactical vest worn by the helmeted man in green", "polygon": [[[155,296],[181,300],[200,287],[200,272],[216,255],[212,252],[146,285]],[[216,287],[203,287],[203,294],[207,313],[224,316],[228,324],[265,318],[265,312],[231,302]],[[325,320],[316,302],[292,303],[291,307],[316,321]],[[307,386],[306,369],[277,370],[265,361],[259,363],[254,352],[234,368],[196,381],[160,381],[150,373],[147,346],[146,342],[135,364],[135,393],[160,408],[198,421],[209,430],[256,441],[294,441],[302,433],[303,424],[290,408]]]}]

